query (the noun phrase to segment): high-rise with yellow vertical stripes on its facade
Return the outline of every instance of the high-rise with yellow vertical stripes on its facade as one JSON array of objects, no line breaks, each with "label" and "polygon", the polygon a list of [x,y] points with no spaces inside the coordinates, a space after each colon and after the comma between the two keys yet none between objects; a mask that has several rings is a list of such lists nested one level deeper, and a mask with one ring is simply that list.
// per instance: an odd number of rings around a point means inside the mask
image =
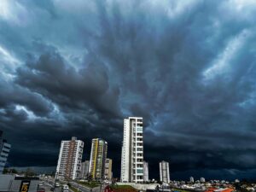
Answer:
[{"label": "high-rise with yellow vertical stripes on its facade", "polygon": [[105,163],[108,154],[108,143],[101,138],[94,138],[90,150],[90,176],[94,180],[105,177]]}]

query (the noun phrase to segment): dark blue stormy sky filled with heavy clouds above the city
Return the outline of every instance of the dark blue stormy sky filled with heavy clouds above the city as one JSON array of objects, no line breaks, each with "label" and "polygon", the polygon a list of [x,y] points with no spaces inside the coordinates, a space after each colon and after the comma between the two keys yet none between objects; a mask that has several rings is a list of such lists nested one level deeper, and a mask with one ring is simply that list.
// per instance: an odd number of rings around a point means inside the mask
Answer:
[{"label": "dark blue stormy sky filled with heavy clouds above the city", "polygon": [[108,141],[142,116],[149,177],[256,177],[254,0],[1,0],[9,166],[56,166],[61,140]]}]

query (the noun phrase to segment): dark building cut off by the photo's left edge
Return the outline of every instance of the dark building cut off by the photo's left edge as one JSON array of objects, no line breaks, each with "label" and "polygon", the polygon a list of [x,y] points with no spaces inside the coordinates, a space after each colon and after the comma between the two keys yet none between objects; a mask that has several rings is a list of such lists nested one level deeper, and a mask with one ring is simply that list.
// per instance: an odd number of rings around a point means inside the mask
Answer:
[{"label": "dark building cut off by the photo's left edge", "polygon": [[3,168],[6,165],[10,148],[11,145],[3,139],[3,131],[0,130],[0,174],[3,173]]}]

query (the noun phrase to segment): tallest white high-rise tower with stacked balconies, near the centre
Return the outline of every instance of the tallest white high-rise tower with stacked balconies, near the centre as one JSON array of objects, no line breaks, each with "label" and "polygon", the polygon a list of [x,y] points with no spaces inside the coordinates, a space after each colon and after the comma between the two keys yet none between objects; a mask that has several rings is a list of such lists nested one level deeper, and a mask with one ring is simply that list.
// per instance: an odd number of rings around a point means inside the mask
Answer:
[{"label": "tallest white high-rise tower with stacked balconies, near the centre", "polygon": [[143,118],[124,119],[121,182],[143,183]]}]

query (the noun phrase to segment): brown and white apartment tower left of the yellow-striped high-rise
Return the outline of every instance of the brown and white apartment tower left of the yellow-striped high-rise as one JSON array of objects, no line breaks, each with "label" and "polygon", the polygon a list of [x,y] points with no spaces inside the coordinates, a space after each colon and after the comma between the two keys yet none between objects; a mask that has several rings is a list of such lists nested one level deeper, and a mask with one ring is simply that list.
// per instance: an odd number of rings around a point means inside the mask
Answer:
[{"label": "brown and white apartment tower left of the yellow-striped high-rise", "polygon": [[72,137],[62,141],[55,178],[76,179],[80,177],[84,142]]}]

